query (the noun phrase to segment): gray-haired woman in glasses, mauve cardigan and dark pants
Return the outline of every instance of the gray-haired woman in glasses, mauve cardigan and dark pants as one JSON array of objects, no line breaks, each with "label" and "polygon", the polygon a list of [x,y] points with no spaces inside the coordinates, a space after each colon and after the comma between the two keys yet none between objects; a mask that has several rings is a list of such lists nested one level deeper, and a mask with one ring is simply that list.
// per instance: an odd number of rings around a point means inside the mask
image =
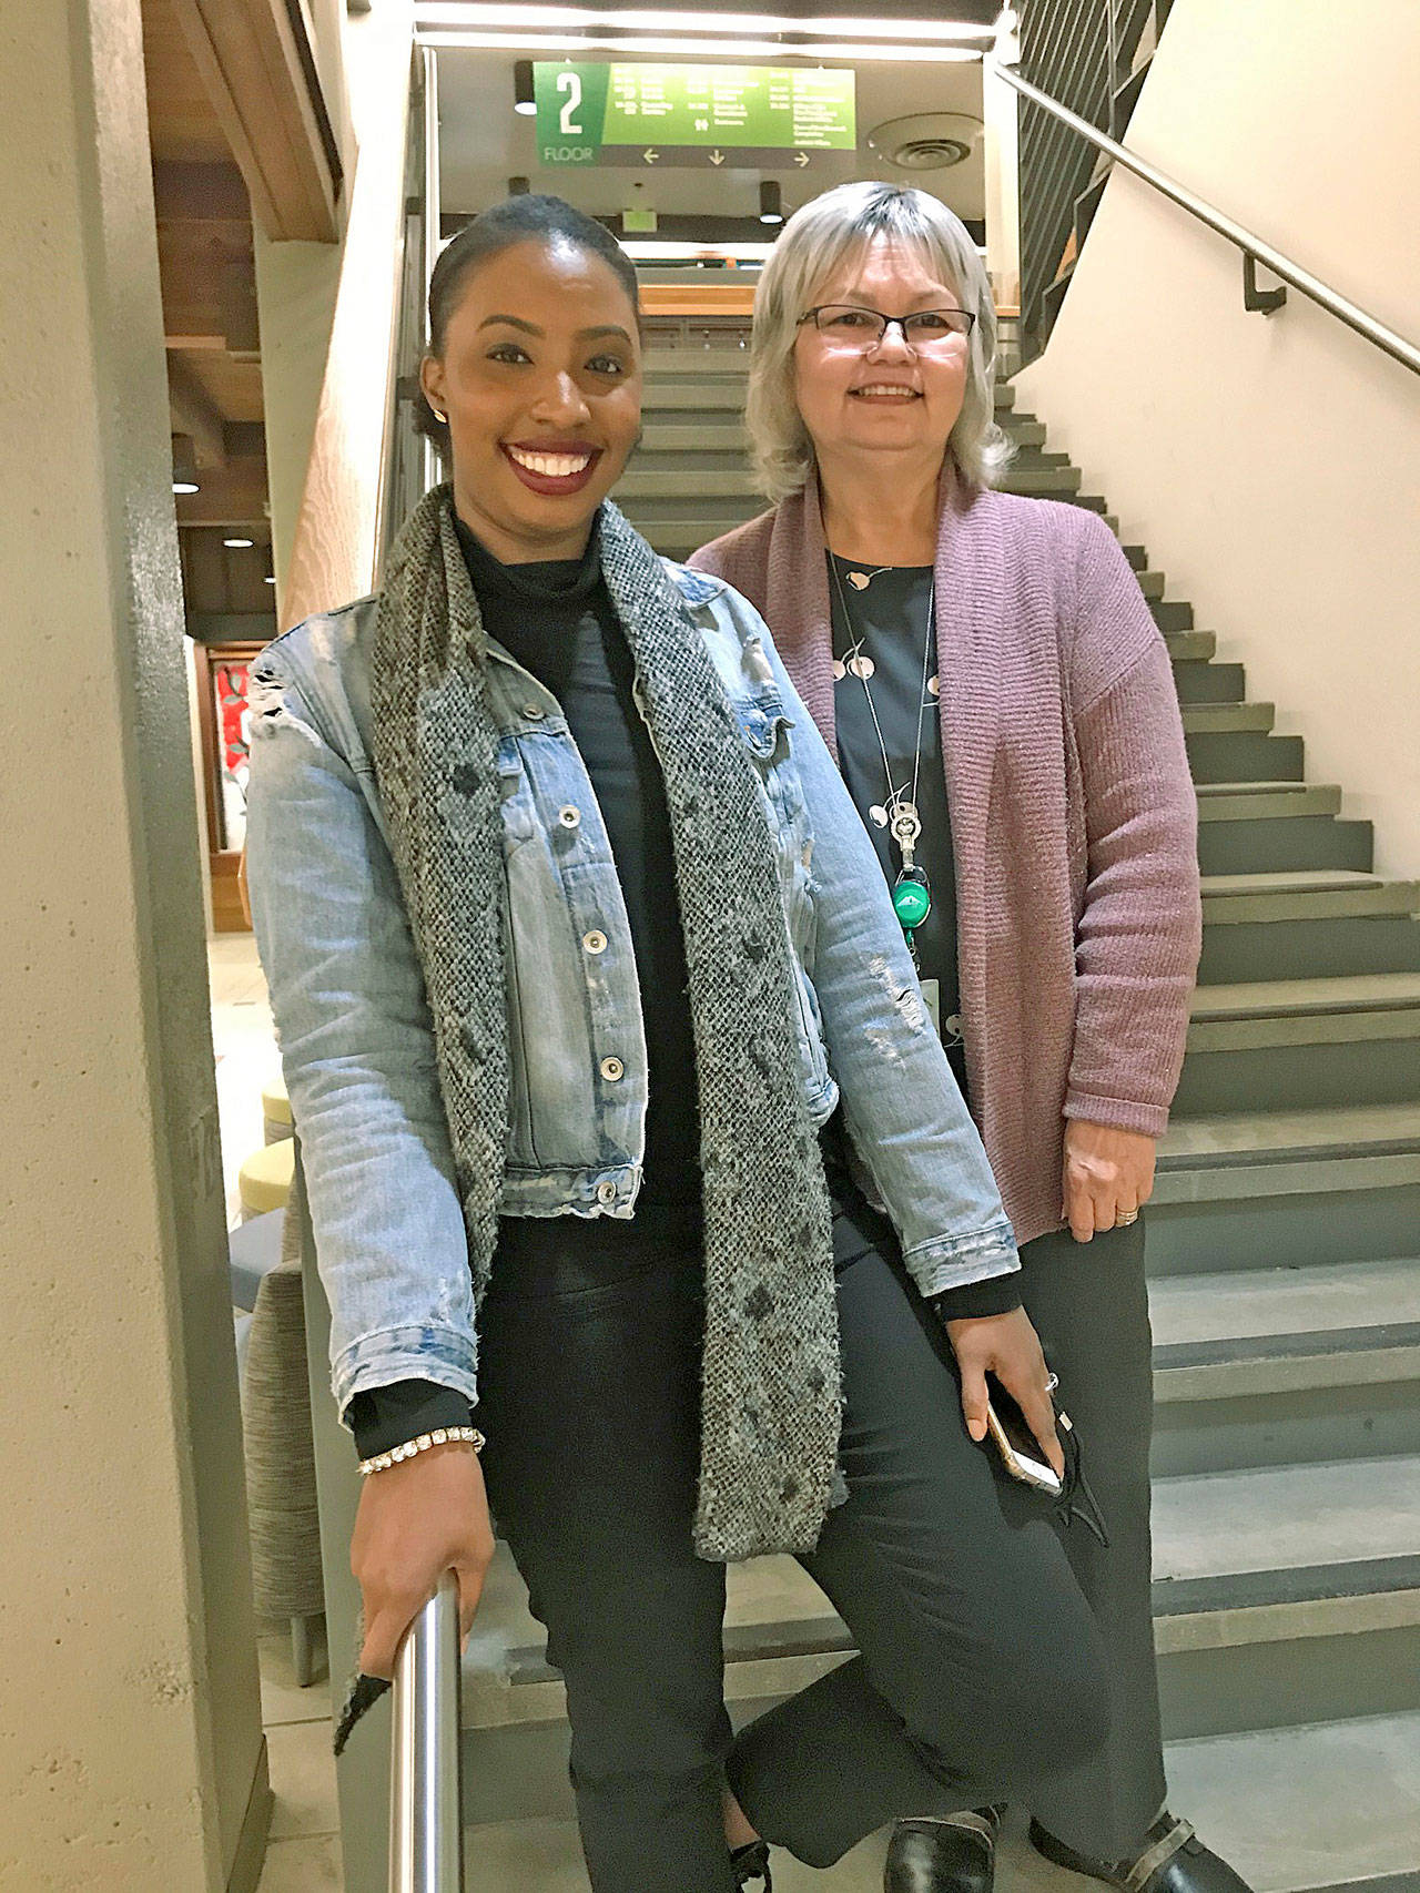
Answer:
[{"label": "gray-haired woman in glasses, mauve cardigan and dark pants", "polygon": [[[1104,1528],[1066,1550],[1111,1732],[1036,1798],[1032,1840],[1132,1893],[1238,1893],[1163,1812],[1149,1607],[1140,1210],[1200,948],[1193,786],[1168,653],[1106,524],[992,490],[994,350],[945,204],[894,184],[805,204],[755,295],[746,418],[772,511],[691,564],[765,613],[837,755],[1087,1441]],[[998,1819],[901,1823],[888,1893],[986,1893]]]}]

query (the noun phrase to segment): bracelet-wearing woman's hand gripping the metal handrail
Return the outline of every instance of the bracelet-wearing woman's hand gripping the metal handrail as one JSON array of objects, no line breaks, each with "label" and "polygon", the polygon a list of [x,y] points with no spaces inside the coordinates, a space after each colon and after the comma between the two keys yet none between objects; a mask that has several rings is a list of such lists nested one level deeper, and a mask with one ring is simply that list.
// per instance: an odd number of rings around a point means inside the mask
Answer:
[{"label": "bracelet-wearing woman's hand gripping the metal handrail", "polygon": [[360,1494],[350,1569],[365,1603],[365,1675],[394,1675],[394,1653],[445,1571],[458,1575],[458,1634],[468,1637],[492,1564],[483,1467],[449,1442],[371,1473]]}]

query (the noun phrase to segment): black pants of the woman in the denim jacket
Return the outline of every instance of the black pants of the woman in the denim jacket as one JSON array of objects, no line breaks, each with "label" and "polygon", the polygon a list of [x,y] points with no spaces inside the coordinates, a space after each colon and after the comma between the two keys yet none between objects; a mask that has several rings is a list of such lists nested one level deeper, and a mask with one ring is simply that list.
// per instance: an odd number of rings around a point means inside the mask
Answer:
[{"label": "black pants of the woman in the denim jacket", "polygon": [[899,1813],[1043,1806],[1106,1740],[1106,1660],[1043,1507],[967,1439],[896,1251],[839,1272],[850,1497],[803,1558],[860,1654],[738,1736],[725,1573],[691,1548],[699,1251],[623,1265],[532,1282],[500,1251],[481,1323],[485,1475],[566,1677],[595,1893],[731,1893],[725,1778],[814,1866]]}]

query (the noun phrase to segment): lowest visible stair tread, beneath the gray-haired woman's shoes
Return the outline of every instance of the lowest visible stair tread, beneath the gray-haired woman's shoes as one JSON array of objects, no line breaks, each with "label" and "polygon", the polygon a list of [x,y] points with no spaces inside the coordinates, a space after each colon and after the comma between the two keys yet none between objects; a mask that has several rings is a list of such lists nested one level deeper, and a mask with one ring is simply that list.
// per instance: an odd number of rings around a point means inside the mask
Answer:
[{"label": "lowest visible stair tread, beneath the gray-haired woman's shoes", "polygon": [[[1170,1804],[1255,1893],[1414,1893],[1420,1885],[1420,1713],[1200,1736],[1166,1747]],[[1002,1893],[1089,1893],[1051,1866],[1011,1810],[998,1848]],[[816,1870],[776,1849],[782,1893],[880,1893],[890,1829]],[[477,1827],[479,1885],[585,1893],[576,1821]]]}]

